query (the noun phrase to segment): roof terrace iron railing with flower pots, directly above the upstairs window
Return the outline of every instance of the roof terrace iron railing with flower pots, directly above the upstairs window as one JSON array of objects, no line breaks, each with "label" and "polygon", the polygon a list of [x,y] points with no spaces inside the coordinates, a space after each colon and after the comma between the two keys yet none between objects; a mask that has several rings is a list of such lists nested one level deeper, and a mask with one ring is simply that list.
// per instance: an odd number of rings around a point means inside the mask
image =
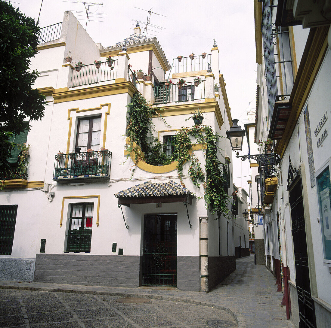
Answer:
[{"label": "roof terrace iron railing with flower pots, directly above the upstairs window", "polygon": [[117,62],[118,60],[114,59],[72,68],[70,87],[115,80]]}]

